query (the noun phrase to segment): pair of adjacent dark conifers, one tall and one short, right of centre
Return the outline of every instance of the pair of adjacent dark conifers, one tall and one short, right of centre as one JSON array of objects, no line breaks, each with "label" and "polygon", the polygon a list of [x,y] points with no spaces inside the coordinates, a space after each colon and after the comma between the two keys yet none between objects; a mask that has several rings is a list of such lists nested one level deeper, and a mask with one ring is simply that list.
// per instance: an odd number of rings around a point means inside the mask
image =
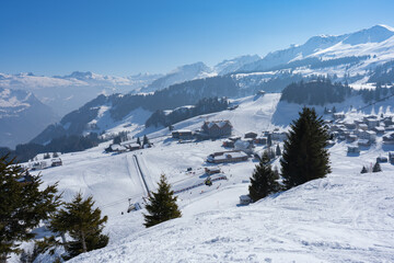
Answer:
[{"label": "pair of adjacent dark conifers, one tall and one short, right of centre", "polygon": [[322,117],[313,108],[303,107],[290,127],[280,159],[282,184],[278,183],[279,172],[271,169],[266,151],[251,178],[248,192],[254,202],[331,172],[329,153],[325,149],[329,135]]}]

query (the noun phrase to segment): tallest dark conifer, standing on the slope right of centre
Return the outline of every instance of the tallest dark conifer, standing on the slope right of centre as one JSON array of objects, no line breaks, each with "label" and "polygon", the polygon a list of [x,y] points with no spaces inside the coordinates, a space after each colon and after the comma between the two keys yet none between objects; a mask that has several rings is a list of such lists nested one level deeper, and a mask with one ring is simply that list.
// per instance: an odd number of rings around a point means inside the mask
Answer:
[{"label": "tallest dark conifer, standing on the slope right of centre", "polygon": [[324,178],[331,172],[329,153],[325,149],[329,135],[322,117],[317,117],[313,108],[303,107],[290,127],[280,159],[287,188]]}]

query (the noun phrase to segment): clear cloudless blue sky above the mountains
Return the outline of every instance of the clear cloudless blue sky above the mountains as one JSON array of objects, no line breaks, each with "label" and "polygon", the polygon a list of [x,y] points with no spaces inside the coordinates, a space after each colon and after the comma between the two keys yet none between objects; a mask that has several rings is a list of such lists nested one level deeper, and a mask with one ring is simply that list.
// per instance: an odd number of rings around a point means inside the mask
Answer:
[{"label": "clear cloudless blue sky above the mountains", "polygon": [[0,72],[129,76],[212,66],[318,34],[394,26],[392,0],[2,0]]}]

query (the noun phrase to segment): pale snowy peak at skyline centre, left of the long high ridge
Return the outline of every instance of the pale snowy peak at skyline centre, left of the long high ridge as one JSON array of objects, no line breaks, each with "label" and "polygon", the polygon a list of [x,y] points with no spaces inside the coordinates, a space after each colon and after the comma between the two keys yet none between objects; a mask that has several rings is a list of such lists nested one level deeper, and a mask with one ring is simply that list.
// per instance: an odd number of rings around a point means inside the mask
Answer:
[{"label": "pale snowy peak at skyline centre, left of the long high ridge", "polygon": [[167,88],[172,84],[216,76],[216,72],[204,62],[184,65],[172,70],[167,75],[154,80],[151,84],[141,89],[141,92],[152,92]]}]

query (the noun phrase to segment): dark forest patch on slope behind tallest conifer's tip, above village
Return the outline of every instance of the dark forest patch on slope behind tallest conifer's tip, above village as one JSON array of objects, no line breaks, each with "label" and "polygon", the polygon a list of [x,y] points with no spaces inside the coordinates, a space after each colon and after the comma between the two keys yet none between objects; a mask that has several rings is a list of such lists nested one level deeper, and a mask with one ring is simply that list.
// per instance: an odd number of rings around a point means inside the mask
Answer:
[{"label": "dark forest patch on slope behind tallest conifer's tip, above village", "polygon": [[280,100],[298,104],[324,105],[344,102],[351,95],[351,91],[348,84],[332,83],[328,78],[320,77],[309,82],[291,83],[285,88]]}]

